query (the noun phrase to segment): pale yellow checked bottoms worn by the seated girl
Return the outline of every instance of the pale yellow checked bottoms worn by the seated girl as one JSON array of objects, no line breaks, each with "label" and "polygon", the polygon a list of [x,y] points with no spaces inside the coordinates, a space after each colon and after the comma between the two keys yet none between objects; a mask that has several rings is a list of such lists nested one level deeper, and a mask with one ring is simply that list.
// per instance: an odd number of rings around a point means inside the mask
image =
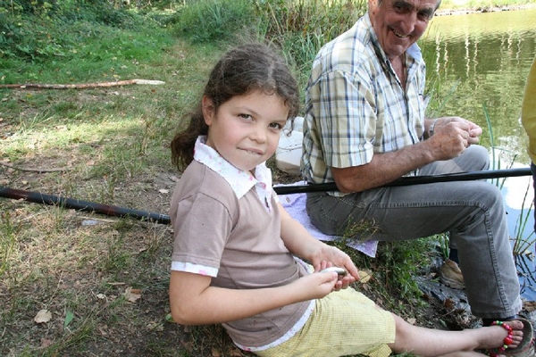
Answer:
[{"label": "pale yellow checked bottoms worn by the seated girl", "polygon": [[263,357],[335,357],[365,354],[389,356],[395,342],[395,320],[389,311],[355,289],[316,300],[304,328],[288,341],[255,353]]}]

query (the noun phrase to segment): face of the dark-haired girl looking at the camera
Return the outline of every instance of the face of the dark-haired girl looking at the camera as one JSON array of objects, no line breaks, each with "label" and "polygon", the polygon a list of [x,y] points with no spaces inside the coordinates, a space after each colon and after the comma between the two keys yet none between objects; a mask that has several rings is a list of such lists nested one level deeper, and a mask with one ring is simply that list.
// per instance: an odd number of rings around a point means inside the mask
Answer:
[{"label": "face of the dark-haired girl looking at the camera", "polygon": [[233,166],[251,171],[275,153],[289,108],[280,96],[255,90],[231,98],[218,112],[204,97],[203,114],[209,127],[206,145]]}]

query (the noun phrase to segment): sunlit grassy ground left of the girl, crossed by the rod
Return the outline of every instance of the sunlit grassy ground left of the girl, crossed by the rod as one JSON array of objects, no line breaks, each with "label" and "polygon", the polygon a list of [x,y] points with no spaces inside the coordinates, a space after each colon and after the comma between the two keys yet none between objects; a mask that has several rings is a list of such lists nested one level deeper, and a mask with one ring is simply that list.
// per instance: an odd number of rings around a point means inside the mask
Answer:
[{"label": "sunlit grassy ground left of the girl, crossed by the rod", "polygon": [[[159,79],[163,86],[0,90],[6,187],[167,212],[179,172],[168,144],[218,57],[157,27],[108,28],[71,58],[8,58],[3,83]],[[76,33],[75,31],[66,31]],[[74,46],[74,45],[73,45]],[[19,68],[20,71],[12,71]],[[169,321],[169,227],[0,200],[0,355],[203,355]],[[141,290],[131,303],[127,288]],[[37,323],[38,311],[51,312]],[[228,341],[229,345],[229,341]],[[178,351],[178,352],[177,352]]]}]

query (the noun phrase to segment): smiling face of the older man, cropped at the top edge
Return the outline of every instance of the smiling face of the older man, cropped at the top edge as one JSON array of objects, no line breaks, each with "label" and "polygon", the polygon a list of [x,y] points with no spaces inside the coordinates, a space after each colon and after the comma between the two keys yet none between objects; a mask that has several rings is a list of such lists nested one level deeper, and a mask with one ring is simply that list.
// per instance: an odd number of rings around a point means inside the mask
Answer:
[{"label": "smiling face of the older man, cropped at the top edge", "polygon": [[381,48],[393,60],[423,36],[440,0],[369,0]]}]

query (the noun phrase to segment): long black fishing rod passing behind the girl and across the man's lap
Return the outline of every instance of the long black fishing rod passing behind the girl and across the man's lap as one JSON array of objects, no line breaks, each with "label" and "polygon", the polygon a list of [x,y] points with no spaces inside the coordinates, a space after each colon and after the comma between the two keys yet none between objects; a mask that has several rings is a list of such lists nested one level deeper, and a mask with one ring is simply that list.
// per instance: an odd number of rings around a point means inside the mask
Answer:
[{"label": "long black fishing rod passing behind the girl and across the man's lap", "polygon": [[[513,178],[520,176],[531,176],[530,168],[523,169],[506,169],[506,170],[484,170],[449,173],[444,175],[431,176],[410,176],[397,179],[386,187],[423,185],[436,182],[448,181],[469,181],[475,179],[500,179]],[[337,191],[335,183],[296,185],[296,186],[278,186],[273,187],[278,195],[291,195],[312,192]],[[30,203],[43,203],[48,205],[58,205],[67,209],[74,209],[83,212],[96,212],[114,217],[130,217],[138,220],[149,220],[161,224],[170,224],[170,216],[163,213],[147,212],[133,210],[109,204],[93,203],[73,198],[66,198],[58,195],[46,195],[39,192],[25,191],[10,187],[0,186],[0,197],[13,198],[15,200],[24,200]]]}]

